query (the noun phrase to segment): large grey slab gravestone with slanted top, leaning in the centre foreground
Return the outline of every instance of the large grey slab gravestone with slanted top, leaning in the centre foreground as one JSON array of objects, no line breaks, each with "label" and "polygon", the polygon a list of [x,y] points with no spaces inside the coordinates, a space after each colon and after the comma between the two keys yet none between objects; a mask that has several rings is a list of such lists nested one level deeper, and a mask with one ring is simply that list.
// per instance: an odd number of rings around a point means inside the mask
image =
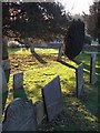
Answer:
[{"label": "large grey slab gravestone with slanted top, leaning in the centre foreground", "polygon": [[46,86],[42,88],[42,98],[44,101],[47,117],[52,121],[62,111],[62,96],[60,78],[54,78]]}]

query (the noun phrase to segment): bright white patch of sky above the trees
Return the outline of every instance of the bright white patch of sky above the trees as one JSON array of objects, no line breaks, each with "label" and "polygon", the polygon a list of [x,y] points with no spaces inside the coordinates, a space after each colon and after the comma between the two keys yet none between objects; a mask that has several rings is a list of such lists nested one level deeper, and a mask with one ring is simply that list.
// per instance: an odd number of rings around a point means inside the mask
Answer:
[{"label": "bright white patch of sky above the trees", "polygon": [[71,12],[72,14],[81,14],[82,11],[89,14],[89,6],[93,3],[93,0],[57,0],[60,1],[67,12]]}]

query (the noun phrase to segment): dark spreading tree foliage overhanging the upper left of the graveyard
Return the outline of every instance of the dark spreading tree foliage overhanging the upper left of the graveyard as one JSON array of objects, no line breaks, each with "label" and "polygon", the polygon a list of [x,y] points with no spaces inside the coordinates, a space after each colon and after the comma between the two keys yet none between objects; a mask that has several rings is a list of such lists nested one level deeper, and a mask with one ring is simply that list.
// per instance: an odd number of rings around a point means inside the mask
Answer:
[{"label": "dark spreading tree foliage overhanging the upper left of the graveyard", "polygon": [[64,34],[67,22],[67,16],[60,3],[2,3],[3,35],[50,40],[52,37]]}]

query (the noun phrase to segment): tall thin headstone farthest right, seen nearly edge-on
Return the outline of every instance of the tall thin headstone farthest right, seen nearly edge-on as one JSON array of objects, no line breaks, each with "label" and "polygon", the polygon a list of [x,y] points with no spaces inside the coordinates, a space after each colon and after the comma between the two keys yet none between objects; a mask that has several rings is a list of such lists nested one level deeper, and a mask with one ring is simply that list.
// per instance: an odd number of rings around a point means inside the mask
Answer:
[{"label": "tall thin headstone farthest right, seen nearly edge-on", "polygon": [[91,54],[91,61],[90,61],[90,83],[96,83],[96,53]]}]

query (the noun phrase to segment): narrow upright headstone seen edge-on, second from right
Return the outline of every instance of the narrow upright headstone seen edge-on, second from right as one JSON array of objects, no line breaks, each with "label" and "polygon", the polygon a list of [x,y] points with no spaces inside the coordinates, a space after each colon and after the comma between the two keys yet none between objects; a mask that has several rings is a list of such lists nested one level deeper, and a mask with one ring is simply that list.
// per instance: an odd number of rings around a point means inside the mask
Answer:
[{"label": "narrow upright headstone seen edge-on, second from right", "polygon": [[83,64],[81,63],[76,70],[77,98],[83,94]]}]

